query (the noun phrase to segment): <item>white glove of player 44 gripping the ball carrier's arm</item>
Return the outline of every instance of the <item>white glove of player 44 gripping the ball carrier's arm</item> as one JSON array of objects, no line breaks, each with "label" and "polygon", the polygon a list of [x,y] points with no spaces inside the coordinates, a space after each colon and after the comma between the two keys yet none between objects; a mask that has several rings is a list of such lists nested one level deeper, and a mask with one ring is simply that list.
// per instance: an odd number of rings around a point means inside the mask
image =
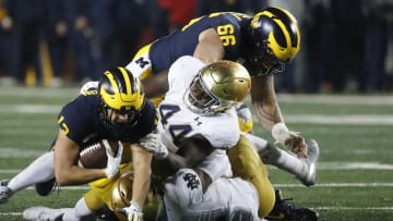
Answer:
[{"label": "white glove of player 44 gripping the ball carrier's arm", "polygon": [[147,151],[152,152],[153,156],[159,160],[165,159],[168,156],[168,149],[159,140],[158,134],[147,134],[139,142]]}]

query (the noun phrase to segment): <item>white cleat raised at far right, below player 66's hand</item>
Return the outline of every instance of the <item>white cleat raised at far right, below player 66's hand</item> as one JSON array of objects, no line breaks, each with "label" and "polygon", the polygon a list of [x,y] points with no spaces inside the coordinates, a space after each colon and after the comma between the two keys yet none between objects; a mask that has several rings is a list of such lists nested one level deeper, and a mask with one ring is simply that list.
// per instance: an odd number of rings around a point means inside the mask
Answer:
[{"label": "white cleat raised at far right, below player 66's hand", "polygon": [[319,159],[319,146],[318,143],[313,139],[307,139],[307,157],[301,158],[307,164],[307,173],[305,175],[296,176],[301,183],[306,186],[311,186],[315,184],[315,174],[317,174],[317,161]]}]

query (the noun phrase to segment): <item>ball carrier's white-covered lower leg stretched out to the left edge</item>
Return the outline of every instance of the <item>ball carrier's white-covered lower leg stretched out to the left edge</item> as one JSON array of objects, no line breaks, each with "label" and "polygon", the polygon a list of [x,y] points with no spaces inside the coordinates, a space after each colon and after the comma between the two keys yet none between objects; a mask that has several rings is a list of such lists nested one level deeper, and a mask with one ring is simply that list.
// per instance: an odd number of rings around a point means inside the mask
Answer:
[{"label": "ball carrier's white-covered lower leg stretched out to the left edge", "polygon": [[27,168],[12,177],[8,185],[0,187],[0,204],[5,202],[12,194],[31,185],[50,181],[55,177],[53,152],[49,151],[35,159]]}]

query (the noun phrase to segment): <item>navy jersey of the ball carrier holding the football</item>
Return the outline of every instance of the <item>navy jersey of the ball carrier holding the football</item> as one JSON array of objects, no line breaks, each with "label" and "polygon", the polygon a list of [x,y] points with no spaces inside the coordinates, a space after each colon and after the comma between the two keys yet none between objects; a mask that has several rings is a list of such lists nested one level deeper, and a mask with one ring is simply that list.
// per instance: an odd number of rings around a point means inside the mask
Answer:
[{"label": "navy jersey of the ball carrier holding the football", "polygon": [[91,140],[109,139],[135,143],[150,134],[157,125],[157,114],[152,102],[145,101],[138,122],[126,130],[107,130],[98,114],[96,95],[80,95],[67,103],[58,115],[58,124],[66,135],[84,147]]}]

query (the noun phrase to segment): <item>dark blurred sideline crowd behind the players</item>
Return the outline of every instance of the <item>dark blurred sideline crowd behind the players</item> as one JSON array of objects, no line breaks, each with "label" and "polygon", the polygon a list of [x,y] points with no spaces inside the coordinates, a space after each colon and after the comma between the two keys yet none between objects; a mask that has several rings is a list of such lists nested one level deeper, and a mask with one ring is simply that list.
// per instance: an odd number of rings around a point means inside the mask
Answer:
[{"label": "dark blurred sideline crowd behind the players", "polygon": [[393,0],[0,0],[0,86],[79,86],[191,19],[267,5],[302,34],[277,91],[393,91]]}]

